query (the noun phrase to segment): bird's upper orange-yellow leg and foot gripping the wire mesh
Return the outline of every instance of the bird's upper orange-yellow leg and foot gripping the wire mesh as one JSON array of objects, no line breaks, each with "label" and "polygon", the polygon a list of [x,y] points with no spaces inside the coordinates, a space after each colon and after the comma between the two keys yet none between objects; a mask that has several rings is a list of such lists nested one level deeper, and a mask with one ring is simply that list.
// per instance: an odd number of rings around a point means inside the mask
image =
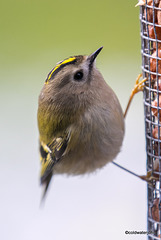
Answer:
[{"label": "bird's upper orange-yellow leg and foot gripping the wire mesh", "polygon": [[133,90],[132,90],[132,92],[131,92],[131,95],[130,95],[130,98],[129,98],[129,101],[128,101],[128,104],[127,104],[127,107],[126,107],[126,110],[125,110],[125,113],[124,113],[124,118],[126,117],[127,111],[128,111],[128,109],[129,109],[129,107],[130,107],[131,101],[132,101],[133,97],[135,96],[135,94],[138,93],[138,92],[143,91],[143,89],[144,89],[143,83],[144,83],[147,79],[144,78],[143,80],[141,80],[141,81],[139,82],[139,80],[140,80],[141,77],[142,77],[142,73],[139,74],[138,77],[137,77],[137,79],[136,79],[135,86],[134,86],[134,88],[133,88]]}]

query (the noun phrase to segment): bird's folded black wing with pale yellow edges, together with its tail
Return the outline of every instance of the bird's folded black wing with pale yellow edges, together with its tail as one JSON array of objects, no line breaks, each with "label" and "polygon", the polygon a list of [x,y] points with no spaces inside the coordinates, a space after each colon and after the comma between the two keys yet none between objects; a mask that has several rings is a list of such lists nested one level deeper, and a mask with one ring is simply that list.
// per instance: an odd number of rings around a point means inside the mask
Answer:
[{"label": "bird's folded black wing with pale yellow edges, together with its tail", "polygon": [[40,182],[45,185],[43,198],[47,192],[54,165],[61,159],[67,148],[69,134],[54,138],[49,144],[40,141],[41,174]]}]

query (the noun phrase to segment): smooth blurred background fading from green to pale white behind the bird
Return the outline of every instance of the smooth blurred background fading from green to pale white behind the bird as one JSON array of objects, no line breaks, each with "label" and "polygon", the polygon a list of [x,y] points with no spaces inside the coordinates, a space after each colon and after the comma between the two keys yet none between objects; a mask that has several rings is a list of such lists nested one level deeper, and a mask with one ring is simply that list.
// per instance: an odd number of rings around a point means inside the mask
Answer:
[{"label": "smooth blurred background fading from green to pale white behind the bird", "polygon": [[[136,3],[1,1],[2,239],[124,239],[126,230],[146,230],[145,184],[112,164],[89,177],[55,177],[45,208],[39,209],[36,111],[46,76],[56,62],[71,55],[90,54],[104,46],[97,66],[125,109],[141,71]],[[140,94],[127,117],[126,136],[117,162],[143,174],[144,149]]]}]

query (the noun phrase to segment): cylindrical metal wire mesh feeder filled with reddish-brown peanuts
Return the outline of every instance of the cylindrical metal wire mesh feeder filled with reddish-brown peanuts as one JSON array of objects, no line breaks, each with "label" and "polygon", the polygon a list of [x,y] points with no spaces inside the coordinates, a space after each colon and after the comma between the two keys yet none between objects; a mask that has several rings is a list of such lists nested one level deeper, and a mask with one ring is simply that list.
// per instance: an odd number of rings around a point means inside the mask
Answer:
[{"label": "cylindrical metal wire mesh feeder filled with reddish-brown peanuts", "polygon": [[147,152],[148,240],[161,239],[161,0],[140,7],[141,54]]}]

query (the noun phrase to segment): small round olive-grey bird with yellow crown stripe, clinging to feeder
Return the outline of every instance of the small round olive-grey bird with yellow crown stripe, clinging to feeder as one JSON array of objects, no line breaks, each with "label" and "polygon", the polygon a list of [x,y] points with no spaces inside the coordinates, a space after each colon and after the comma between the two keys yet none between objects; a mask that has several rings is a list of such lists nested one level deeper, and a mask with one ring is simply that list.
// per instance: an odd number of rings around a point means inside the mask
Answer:
[{"label": "small round olive-grey bird with yellow crown stripe, clinging to feeder", "polygon": [[[95,59],[102,48],[89,56],[59,62],[39,95],[43,198],[53,174],[90,173],[112,162],[120,152],[125,115],[116,94],[96,68]],[[142,83],[136,83],[137,91],[133,91],[129,104],[142,90]]]}]

